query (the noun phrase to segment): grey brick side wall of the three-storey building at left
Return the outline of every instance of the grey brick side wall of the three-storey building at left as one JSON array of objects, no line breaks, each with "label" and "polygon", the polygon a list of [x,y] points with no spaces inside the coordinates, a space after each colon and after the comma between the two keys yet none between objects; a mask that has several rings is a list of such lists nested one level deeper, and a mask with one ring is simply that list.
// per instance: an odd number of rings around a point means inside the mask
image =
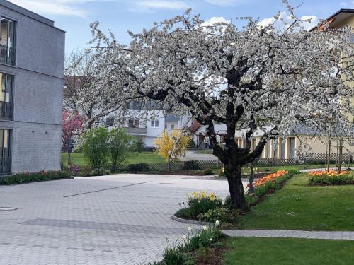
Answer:
[{"label": "grey brick side wall of the three-storey building at left", "polygon": [[[64,32],[2,6],[0,14],[16,20],[16,66],[0,64],[0,72],[12,74],[13,122],[12,171],[60,169],[62,89],[64,81]],[[44,21],[47,21],[43,18]]]}]

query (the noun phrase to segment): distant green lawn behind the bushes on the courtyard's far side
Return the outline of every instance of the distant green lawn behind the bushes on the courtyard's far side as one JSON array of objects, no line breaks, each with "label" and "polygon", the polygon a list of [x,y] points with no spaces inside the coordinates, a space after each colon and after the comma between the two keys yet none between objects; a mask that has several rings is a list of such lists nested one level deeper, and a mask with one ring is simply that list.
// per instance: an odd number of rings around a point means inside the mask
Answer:
[{"label": "distant green lawn behind the bushes on the courtyard's far side", "polygon": [[[84,166],[87,165],[84,155],[82,153],[72,153],[72,163],[74,165]],[[156,152],[142,152],[131,153],[130,157],[125,160],[125,164],[137,163],[165,163],[166,161]],[[62,163],[67,165],[67,153],[62,153]]]}]

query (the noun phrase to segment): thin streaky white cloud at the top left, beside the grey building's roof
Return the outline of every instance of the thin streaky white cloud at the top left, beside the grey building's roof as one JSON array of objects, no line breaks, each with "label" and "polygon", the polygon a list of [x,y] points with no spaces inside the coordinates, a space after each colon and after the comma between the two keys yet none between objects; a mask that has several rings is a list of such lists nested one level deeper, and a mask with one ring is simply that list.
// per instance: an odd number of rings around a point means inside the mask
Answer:
[{"label": "thin streaky white cloud at the top left, beside the grey building's roof", "polygon": [[85,16],[87,12],[80,7],[81,4],[99,1],[112,0],[8,0],[13,4],[27,8],[30,11],[40,14],[62,15],[62,16]]}]

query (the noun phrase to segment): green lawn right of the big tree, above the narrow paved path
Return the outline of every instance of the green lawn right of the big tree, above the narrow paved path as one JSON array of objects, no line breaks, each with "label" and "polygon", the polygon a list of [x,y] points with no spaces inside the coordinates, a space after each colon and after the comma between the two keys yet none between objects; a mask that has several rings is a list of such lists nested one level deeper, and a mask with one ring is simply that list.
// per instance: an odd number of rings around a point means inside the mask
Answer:
[{"label": "green lawn right of the big tree, above the narrow paved path", "polygon": [[309,187],[308,179],[295,175],[239,218],[238,228],[353,231],[354,185]]}]

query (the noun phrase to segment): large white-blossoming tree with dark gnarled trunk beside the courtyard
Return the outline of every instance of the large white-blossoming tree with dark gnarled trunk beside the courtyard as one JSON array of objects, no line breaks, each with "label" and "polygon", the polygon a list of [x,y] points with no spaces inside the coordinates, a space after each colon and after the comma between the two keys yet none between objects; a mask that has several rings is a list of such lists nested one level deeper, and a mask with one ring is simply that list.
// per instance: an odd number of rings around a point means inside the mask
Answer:
[{"label": "large white-blossoming tree with dark gnarled trunk beside the courtyard", "polygon": [[[298,125],[328,134],[328,117],[353,138],[346,113],[353,114],[354,91],[341,80],[342,74],[353,80],[353,65],[341,64],[353,61],[350,29],[324,26],[308,32],[284,2],[290,23],[278,13],[263,27],[253,18],[241,18],[242,27],[210,25],[188,11],[130,33],[130,45],[106,36],[98,23],[91,25],[91,64],[104,69],[97,78],[115,89],[112,100],[155,100],[171,112],[188,110],[205,125],[213,154],[225,167],[232,207],[241,211],[248,210],[241,167],[253,162],[270,139],[287,136]],[[226,125],[223,144],[215,123]],[[241,129],[246,131],[243,147],[234,139]],[[257,129],[263,135],[251,150]]]}]

